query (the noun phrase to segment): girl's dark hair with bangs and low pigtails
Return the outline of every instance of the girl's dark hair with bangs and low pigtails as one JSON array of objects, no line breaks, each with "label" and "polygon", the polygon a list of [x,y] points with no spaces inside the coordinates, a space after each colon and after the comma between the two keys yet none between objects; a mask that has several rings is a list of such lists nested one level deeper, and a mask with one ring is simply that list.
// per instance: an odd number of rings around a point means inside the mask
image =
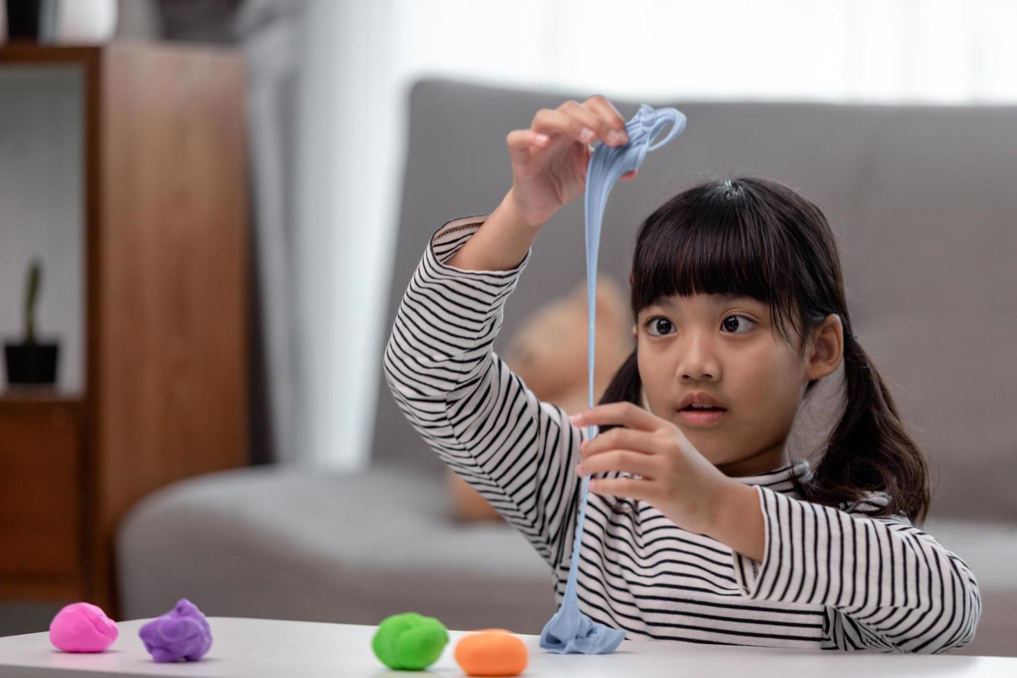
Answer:
[{"label": "girl's dark hair with bangs and low pigtails", "polygon": [[[820,208],[779,182],[737,177],[684,190],[646,219],[633,257],[634,320],[661,297],[726,293],[768,304],[789,344],[796,340],[788,324],[800,330],[801,357],[810,329],[830,313],[841,318],[846,405],[814,473],[804,482],[792,474],[800,496],[837,506],[863,501],[870,491],[886,492],[888,503],[870,515],[904,513],[923,521],[930,503],[928,465],[854,335],[837,247]],[[806,397],[816,383],[806,385]],[[634,350],[600,404],[639,405],[641,387]]]}]

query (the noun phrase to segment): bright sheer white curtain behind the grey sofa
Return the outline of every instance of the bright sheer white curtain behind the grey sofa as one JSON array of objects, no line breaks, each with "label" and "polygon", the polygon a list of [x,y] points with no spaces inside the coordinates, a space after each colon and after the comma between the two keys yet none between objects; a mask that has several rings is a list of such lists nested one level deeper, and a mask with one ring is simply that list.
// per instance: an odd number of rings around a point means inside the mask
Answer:
[{"label": "bright sheer white curtain behind the grey sofa", "polygon": [[340,469],[368,461],[417,77],[635,100],[1017,101],[1009,0],[314,0],[307,18],[300,449]]}]

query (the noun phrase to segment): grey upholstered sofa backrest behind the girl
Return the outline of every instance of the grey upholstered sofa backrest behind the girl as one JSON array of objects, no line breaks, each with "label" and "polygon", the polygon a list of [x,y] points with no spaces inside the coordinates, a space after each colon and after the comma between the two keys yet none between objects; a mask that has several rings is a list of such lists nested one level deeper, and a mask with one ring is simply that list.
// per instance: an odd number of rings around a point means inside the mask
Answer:
[{"label": "grey upholstered sofa backrest behind the girl", "polygon": [[[493,210],[511,187],[508,131],[588,96],[415,83],[384,341],[435,229]],[[642,102],[612,103],[627,120]],[[677,108],[687,127],[611,191],[600,274],[627,290],[642,221],[693,184],[747,174],[791,186],[830,221],[854,329],[930,458],[932,514],[1017,519],[1017,107],[646,103]],[[496,352],[548,290],[586,280],[583,224],[579,199],[541,232]],[[372,461],[437,475],[440,463],[396,406],[380,365],[377,375]],[[821,452],[841,376],[795,424],[793,455]]]}]

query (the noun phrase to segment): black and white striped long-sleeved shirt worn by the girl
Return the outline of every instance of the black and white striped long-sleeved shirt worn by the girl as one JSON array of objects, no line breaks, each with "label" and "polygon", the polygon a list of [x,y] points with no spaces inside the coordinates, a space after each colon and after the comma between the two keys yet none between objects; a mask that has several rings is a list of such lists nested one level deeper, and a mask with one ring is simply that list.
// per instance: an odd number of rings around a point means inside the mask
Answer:
[{"label": "black and white striped long-sleeved shirt worn by the girl", "polygon": [[[493,351],[532,250],[508,270],[445,263],[486,219],[453,220],[432,235],[398,309],[383,369],[428,446],[547,562],[560,605],[587,429],[537,398]],[[682,530],[646,502],[619,498],[612,510],[590,493],[580,609],[626,638],[928,654],[970,643],[981,602],[964,561],[903,514],[869,515],[885,505],[885,493],[839,507],[803,501],[791,475],[809,473],[802,460],[733,479],[759,494],[762,562]]]}]

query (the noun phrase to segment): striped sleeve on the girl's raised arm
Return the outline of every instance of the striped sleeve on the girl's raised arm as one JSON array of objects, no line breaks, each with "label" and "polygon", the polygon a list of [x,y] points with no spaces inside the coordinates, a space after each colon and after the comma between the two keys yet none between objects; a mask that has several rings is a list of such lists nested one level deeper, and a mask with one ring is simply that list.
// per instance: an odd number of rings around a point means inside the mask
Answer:
[{"label": "striped sleeve on the girl's raised arm", "polygon": [[508,270],[445,264],[486,219],[453,220],[431,236],[396,314],[385,379],[428,446],[556,568],[572,534],[584,434],[493,351],[532,250]]}]

